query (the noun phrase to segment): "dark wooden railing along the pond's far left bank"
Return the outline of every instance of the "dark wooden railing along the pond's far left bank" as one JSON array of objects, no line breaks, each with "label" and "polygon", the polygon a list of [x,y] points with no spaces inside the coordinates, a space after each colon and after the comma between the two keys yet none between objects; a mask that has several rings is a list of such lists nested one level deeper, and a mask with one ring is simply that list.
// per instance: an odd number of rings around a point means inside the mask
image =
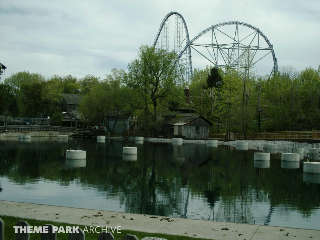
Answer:
[{"label": "dark wooden railing along the pond's far left bank", "polygon": [[74,127],[58,127],[51,125],[35,125],[35,126],[0,126],[0,134],[5,132],[35,132],[35,131],[51,131],[51,132],[92,132],[96,134],[104,133],[104,130],[100,129],[89,129],[89,128],[77,128]]}]

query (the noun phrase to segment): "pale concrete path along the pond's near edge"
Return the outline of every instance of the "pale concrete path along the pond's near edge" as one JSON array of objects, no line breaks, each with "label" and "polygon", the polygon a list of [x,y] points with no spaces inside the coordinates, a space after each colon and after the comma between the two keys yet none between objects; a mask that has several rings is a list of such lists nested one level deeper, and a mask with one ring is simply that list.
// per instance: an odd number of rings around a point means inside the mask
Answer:
[{"label": "pale concrete path along the pond's near edge", "polygon": [[[14,216],[20,218],[20,220],[31,218],[36,220],[64,222],[70,223],[70,226],[112,226],[113,228],[115,226],[121,226],[121,229],[131,229],[149,233],[183,235],[195,238],[209,238],[216,240],[320,239],[319,230],[281,228],[182,218],[161,220],[163,218],[161,216],[155,216],[157,218],[150,218],[152,216],[143,214],[58,207],[9,201],[0,201],[0,215]],[[95,217],[93,215],[99,216]],[[109,223],[107,223],[107,221],[109,221]],[[228,228],[229,230],[222,230],[222,228]]]}]

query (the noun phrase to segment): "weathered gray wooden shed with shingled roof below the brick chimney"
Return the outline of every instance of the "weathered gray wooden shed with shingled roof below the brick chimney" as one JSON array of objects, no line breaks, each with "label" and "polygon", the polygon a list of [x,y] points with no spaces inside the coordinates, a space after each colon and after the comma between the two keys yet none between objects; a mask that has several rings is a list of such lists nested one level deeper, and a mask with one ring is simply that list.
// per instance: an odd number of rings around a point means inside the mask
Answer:
[{"label": "weathered gray wooden shed with shingled roof below the brick chimney", "polygon": [[212,123],[203,116],[176,116],[164,126],[165,136],[184,139],[208,139]]}]

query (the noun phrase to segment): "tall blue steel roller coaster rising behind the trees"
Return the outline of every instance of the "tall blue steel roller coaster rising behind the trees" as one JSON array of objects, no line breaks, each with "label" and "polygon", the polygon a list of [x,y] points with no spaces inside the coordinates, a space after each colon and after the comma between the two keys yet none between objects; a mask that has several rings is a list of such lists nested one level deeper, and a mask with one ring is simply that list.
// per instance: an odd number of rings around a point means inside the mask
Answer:
[{"label": "tall blue steel roller coaster rising behind the trees", "polygon": [[[219,68],[234,68],[238,73],[248,75],[250,68],[271,53],[273,59],[271,74],[278,70],[273,45],[267,36],[259,28],[239,21],[222,22],[212,25],[190,40],[187,24],[182,15],[178,12],[169,12],[162,20],[153,42],[153,46],[156,48],[169,50],[169,18],[173,15],[175,16],[174,51],[177,54],[176,65],[183,79],[183,83],[181,84],[188,84],[193,75],[191,48],[214,66]],[[231,31],[232,35],[229,33],[230,31],[226,33],[226,29],[223,29],[224,26],[228,25],[235,27]],[[240,36],[239,32],[242,32],[239,31],[240,26],[249,30],[251,29],[251,31],[245,30],[243,32],[246,32],[246,34]],[[183,29],[185,32],[184,38]],[[200,42],[200,39],[202,39],[202,42]]]}]

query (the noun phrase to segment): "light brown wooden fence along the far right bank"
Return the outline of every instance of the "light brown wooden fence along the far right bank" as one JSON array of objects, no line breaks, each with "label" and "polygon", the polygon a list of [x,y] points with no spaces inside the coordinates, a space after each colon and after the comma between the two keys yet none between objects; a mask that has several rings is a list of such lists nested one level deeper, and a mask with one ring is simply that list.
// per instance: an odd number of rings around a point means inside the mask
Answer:
[{"label": "light brown wooden fence along the far right bank", "polygon": [[[210,139],[240,140],[240,133],[209,133]],[[248,140],[284,140],[284,139],[320,139],[320,131],[285,131],[285,132],[254,132],[248,133]]]}]

